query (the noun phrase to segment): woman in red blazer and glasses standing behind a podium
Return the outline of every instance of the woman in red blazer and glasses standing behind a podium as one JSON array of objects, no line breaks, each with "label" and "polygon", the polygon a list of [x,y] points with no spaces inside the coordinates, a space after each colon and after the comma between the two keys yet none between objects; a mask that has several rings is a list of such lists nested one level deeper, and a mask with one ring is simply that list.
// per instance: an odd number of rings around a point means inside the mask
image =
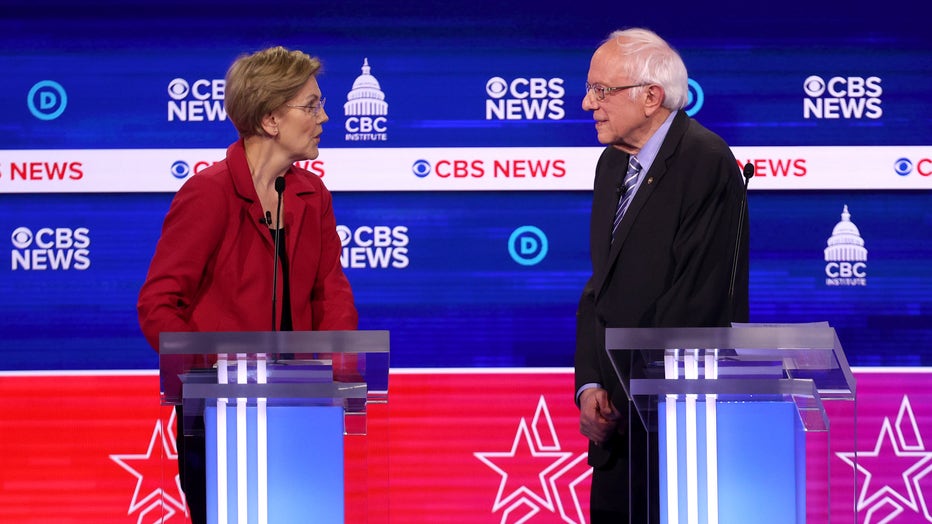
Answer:
[{"label": "woman in red blazer and glasses standing behind a podium", "polygon": [[[328,120],[319,70],[318,59],[274,47],[227,72],[226,112],[240,139],[175,195],[139,292],[139,324],[156,350],[162,332],[267,331],[273,318],[281,330],[356,329],[331,194],[294,165],[317,158]],[[192,521],[203,522],[203,437],[179,431],[178,445]]]}]

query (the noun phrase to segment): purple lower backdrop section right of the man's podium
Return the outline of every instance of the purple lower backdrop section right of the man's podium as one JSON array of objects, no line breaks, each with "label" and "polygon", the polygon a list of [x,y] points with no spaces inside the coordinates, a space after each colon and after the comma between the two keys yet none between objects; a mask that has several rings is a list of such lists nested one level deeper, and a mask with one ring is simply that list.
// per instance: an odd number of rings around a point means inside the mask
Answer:
[{"label": "purple lower backdrop section right of the man's podium", "polygon": [[[855,377],[857,416],[850,403],[826,404],[831,522],[932,522],[932,369],[860,369]],[[808,464],[820,456],[810,449]]]}]

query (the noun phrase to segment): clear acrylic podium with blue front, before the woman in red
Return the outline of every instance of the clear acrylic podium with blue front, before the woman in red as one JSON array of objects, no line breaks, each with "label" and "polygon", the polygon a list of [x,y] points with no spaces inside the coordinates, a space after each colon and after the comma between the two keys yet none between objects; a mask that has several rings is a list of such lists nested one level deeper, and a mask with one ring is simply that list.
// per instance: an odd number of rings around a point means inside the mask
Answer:
[{"label": "clear acrylic podium with blue front, before the woman in red", "polygon": [[208,523],[348,522],[344,478],[365,471],[344,472],[344,441],[367,452],[388,364],[387,331],[162,333],[162,403],[207,443]]}]

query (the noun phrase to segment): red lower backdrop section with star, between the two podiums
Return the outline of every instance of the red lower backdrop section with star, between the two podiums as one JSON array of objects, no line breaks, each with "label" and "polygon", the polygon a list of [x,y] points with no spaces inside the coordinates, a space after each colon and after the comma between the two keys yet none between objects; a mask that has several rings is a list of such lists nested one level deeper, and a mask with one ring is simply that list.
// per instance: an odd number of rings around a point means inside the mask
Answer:
[{"label": "red lower backdrop section with star, between the two podiums", "polygon": [[391,375],[391,521],[583,522],[572,399],[571,372]]}]

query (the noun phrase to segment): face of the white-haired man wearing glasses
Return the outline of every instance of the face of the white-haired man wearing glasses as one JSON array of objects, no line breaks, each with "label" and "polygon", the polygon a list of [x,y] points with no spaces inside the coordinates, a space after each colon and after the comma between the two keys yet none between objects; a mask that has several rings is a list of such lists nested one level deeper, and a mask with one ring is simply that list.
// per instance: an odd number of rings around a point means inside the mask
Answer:
[{"label": "face of the white-haired man wearing glasses", "polygon": [[[589,64],[587,82],[602,87],[629,86],[635,82],[627,78],[622,68],[623,58],[615,51],[616,44],[607,42],[592,55]],[[643,88],[607,92],[604,100],[599,100],[596,89],[590,89],[583,98],[582,107],[592,111],[599,142],[614,145],[628,151],[640,148],[638,131],[647,123],[643,107]],[[632,95],[634,98],[632,98]]]}]

